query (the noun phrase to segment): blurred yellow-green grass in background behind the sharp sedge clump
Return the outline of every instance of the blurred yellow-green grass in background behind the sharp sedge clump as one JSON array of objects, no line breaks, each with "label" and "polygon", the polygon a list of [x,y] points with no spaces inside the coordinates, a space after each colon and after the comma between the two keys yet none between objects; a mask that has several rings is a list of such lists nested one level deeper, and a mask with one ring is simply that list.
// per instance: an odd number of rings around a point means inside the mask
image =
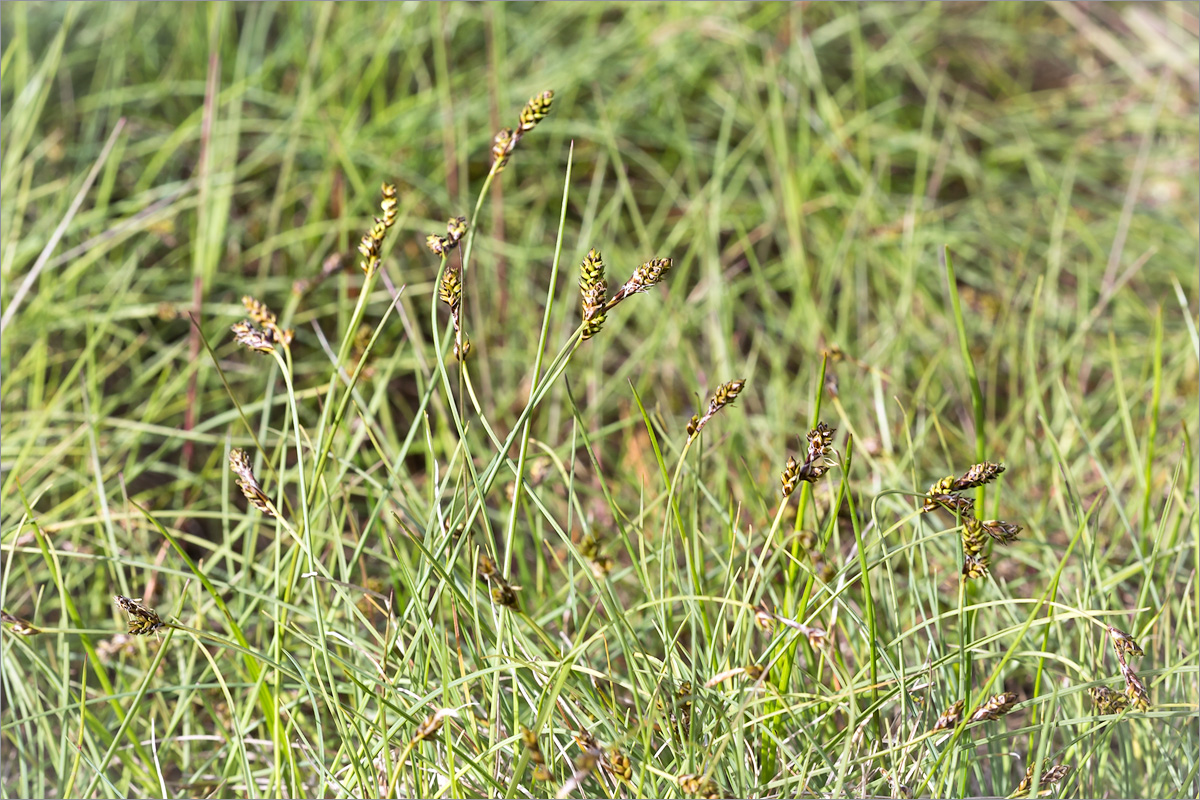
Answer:
[{"label": "blurred yellow-green grass in background behind the sharp sedge clump", "polygon": [[[437,266],[425,234],[470,210],[492,133],[553,89],[553,113],[485,206],[468,273],[475,385],[494,427],[506,431],[529,392],[574,144],[551,341],[578,323],[566,267],[589,247],[611,281],[653,255],[676,265],[568,373],[622,504],[636,509],[659,480],[631,389],[682,441],[716,384],[745,377],[709,434],[703,483],[715,505],[743,509],[739,524],[769,523],[823,354],[823,419],[854,434],[860,511],[880,491],[922,492],[970,464],[944,245],[985,450],[1008,465],[998,503],[1028,530],[994,569],[1007,594],[1042,591],[1078,503],[1097,541],[1064,575],[1070,602],[1194,612],[1194,2],[5,4],[0,25],[5,610],[62,614],[22,493],[84,618],[116,620],[110,595],[139,596],[148,579],[163,591],[151,565],[170,559],[126,495],[234,581],[247,555],[228,541],[223,461],[242,435],[229,391],[257,408],[269,371],[234,350],[228,325],[245,293],[294,311],[298,391],[322,386],[320,337],[336,347],[346,332],[361,284],[354,245],[385,180],[401,197],[385,269],[407,288],[367,386],[379,429],[402,440],[430,357],[414,347],[430,335]],[[347,270],[289,300],[330,257]],[[389,301],[377,289],[374,319]],[[556,397],[533,434],[552,447],[574,422]],[[310,402],[304,421],[318,413]],[[446,419],[431,425],[437,444],[406,459],[406,495],[428,494],[433,461],[452,452]],[[378,461],[340,456],[367,474]],[[588,467],[571,492],[604,521]],[[379,497],[370,481],[344,491],[353,539]],[[1153,542],[1175,549],[1147,565]],[[713,545],[725,566],[728,548]],[[944,589],[956,565],[942,561],[929,577]],[[883,625],[894,636],[910,622]],[[1194,639],[1157,646],[1171,654],[1163,667],[1195,658]],[[42,655],[54,654],[66,650]],[[34,655],[5,658],[11,698]],[[1177,680],[1175,702],[1194,706],[1194,669]],[[6,703],[7,742],[36,705],[14,716]],[[1171,757],[1165,734],[1145,735],[1157,754],[1139,745],[1127,757]],[[6,778],[7,796],[62,780],[24,762],[14,772],[8,752],[6,775],[22,777]],[[1124,796],[1178,793],[1195,768],[1138,780]]]}]

